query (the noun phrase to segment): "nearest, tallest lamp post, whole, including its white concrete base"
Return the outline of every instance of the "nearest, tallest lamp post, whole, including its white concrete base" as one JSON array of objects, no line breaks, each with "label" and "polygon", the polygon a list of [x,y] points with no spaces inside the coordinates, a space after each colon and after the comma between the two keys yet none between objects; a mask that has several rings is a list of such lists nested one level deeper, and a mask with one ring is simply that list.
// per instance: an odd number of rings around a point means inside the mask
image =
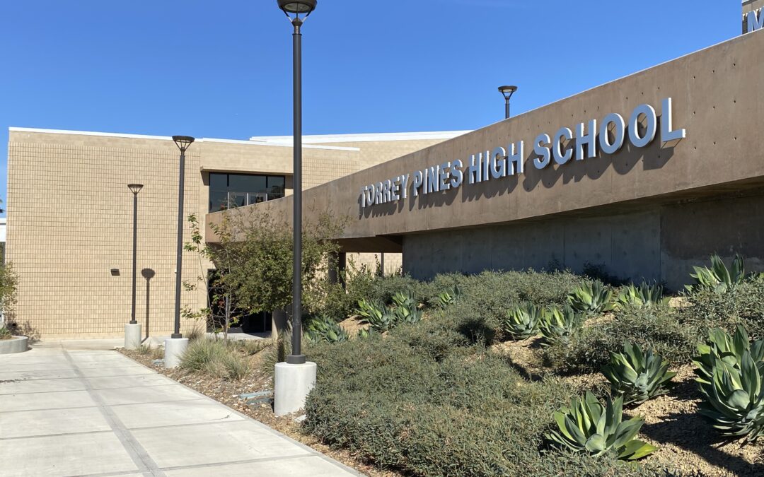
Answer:
[{"label": "nearest, tallest lamp post, whole, including its white concrete base", "polygon": [[292,353],[286,363],[276,365],[274,412],[290,414],[305,405],[305,398],[316,383],[316,363],[307,363],[300,339],[303,334],[303,34],[301,28],[316,9],[317,0],[277,0],[279,8],[293,26],[293,285]]}]

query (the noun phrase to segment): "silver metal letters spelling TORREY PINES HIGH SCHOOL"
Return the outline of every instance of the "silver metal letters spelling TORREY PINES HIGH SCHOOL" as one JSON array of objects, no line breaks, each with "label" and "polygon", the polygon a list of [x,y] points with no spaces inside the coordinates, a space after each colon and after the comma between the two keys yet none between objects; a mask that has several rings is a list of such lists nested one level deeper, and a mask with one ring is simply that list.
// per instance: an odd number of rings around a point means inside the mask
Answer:
[{"label": "silver metal letters spelling TORREY PINES HIGH SCHOOL", "polygon": [[[762,24],[758,18],[756,24],[760,28]],[[764,16],[761,18],[764,19]],[[581,122],[575,124],[573,129],[561,127],[553,136],[539,134],[533,141],[531,163],[536,169],[545,169],[554,159],[558,166],[565,167],[574,158],[581,161],[596,157],[597,147],[604,154],[615,154],[627,140],[638,149],[647,147],[658,136],[661,147],[675,147],[687,137],[687,131],[673,128],[672,115],[672,100],[664,98],[660,121],[651,105],[638,105],[629,115],[628,124],[620,114],[610,113],[601,121],[592,119]],[[456,160],[439,161],[432,166],[364,185],[361,187],[361,208],[523,174],[525,161],[525,143],[522,140],[494,144]]]}]

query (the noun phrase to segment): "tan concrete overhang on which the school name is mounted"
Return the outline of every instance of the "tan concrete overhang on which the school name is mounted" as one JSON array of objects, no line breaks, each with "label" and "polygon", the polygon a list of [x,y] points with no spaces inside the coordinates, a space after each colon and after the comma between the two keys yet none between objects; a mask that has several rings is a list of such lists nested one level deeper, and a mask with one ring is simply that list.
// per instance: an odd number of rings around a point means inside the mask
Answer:
[{"label": "tan concrete overhang on which the school name is mounted", "polygon": [[[764,124],[764,34],[736,37],[687,56],[609,82],[570,98],[491,124],[387,163],[364,169],[304,192],[317,211],[350,218],[337,237],[348,251],[377,247],[377,237],[400,240],[433,230],[510,224],[608,209],[640,208],[735,192],[764,185],[764,154],[756,146]],[[663,98],[673,100],[673,126],[687,137],[663,144],[659,137],[643,148],[624,147],[613,155],[571,160],[536,169],[534,139],[559,128],[621,114],[626,121],[637,105],[662,114]],[[663,118],[661,118],[661,121]],[[523,140],[525,171],[518,176],[463,184],[458,189],[361,207],[361,189],[401,174],[447,161],[469,163],[471,155]],[[291,221],[292,198],[250,206]],[[245,208],[245,209],[248,209]],[[207,216],[209,224],[221,213]],[[372,240],[374,239],[374,240]],[[372,251],[372,250],[368,250]],[[373,251],[383,251],[375,249]]]}]

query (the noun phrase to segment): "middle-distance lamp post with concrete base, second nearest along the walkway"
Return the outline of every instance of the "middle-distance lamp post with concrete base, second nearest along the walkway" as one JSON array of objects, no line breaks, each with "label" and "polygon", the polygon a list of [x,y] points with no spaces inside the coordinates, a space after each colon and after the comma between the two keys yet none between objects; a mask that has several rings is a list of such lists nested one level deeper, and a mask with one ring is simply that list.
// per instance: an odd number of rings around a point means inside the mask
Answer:
[{"label": "middle-distance lamp post with concrete base, second nearest along the walkway", "polygon": [[180,356],[186,351],[188,338],[180,333],[180,287],[183,285],[183,192],[186,186],[186,150],[193,143],[190,136],[173,136],[180,149],[180,178],[178,181],[178,239],[175,252],[175,330],[169,340],[164,342],[164,367],[174,368],[180,364]]}]

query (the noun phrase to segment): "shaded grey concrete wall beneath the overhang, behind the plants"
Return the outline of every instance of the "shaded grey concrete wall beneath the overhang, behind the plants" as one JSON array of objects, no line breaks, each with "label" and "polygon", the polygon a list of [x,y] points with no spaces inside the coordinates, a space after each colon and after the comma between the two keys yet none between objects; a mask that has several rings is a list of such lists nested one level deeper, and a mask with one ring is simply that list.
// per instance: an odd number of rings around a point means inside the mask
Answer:
[{"label": "shaded grey concrete wall beneath the overhang, behind the plants", "polygon": [[403,237],[403,270],[417,279],[438,273],[551,269],[582,272],[586,263],[634,282],[655,280],[678,290],[693,266],[711,254],[746,257],[764,271],[764,191],[629,214],[558,218]]}]

